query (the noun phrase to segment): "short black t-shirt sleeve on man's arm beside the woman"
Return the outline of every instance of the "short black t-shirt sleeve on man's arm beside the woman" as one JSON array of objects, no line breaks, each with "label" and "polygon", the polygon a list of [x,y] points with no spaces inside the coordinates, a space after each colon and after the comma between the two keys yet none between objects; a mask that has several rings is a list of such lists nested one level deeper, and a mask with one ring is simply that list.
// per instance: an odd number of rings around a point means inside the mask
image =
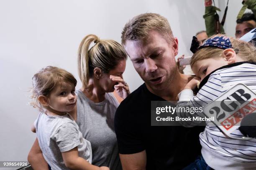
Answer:
[{"label": "short black t-shirt sleeve on man's arm beside the woman", "polygon": [[[134,110],[136,111],[136,110]],[[124,101],[115,112],[115,133],[120,154],[133,154],[145,150],[137,119],[133,110]]]}]

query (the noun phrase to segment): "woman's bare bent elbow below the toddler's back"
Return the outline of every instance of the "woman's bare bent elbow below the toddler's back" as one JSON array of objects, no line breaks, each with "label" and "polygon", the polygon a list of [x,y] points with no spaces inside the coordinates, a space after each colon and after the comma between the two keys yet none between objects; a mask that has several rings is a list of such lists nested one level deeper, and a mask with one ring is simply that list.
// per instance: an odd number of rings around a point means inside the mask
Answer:
[{"label": "woman's bare bent elbow below the toddler's back", "polygon": [[49,170],[48,164],[46,163],[41,148],[39,147],[37,138],[28,153],[28,162],[34,170]]}]

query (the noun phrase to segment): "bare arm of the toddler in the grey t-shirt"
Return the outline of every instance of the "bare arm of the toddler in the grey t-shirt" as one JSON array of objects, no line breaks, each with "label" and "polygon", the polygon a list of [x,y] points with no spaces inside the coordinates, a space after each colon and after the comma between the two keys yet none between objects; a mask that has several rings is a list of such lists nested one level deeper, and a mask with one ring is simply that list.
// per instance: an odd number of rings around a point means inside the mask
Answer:
[{"label": "bare arm of the toddler in the grey t-shirt", "polygon": [[72,170],[109,170],[108,167],[97,167],[79,157],[77,147],[67,152],[63,152],[61,155],[66,167]]}]

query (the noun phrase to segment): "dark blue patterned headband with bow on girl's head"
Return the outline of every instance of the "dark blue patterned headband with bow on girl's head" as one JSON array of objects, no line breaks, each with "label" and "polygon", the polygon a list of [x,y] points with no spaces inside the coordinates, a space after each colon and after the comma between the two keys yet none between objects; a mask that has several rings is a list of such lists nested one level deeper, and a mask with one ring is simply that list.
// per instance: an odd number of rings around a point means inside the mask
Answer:
[{"label": "dark blue patterned headband with bow on girl's head", "polygon": [[195,53],[197,52],[197,50],[204,47],[217,47],[217,48],[222,48],[224,50],[228,48],[233,48],[230,42],[230,39],[225,36],[216,36],[216,37],[209,38],[200,47],[199,47],[199,42],[197,40],[197,37],[194,36],[191,42],[190,51]]}]

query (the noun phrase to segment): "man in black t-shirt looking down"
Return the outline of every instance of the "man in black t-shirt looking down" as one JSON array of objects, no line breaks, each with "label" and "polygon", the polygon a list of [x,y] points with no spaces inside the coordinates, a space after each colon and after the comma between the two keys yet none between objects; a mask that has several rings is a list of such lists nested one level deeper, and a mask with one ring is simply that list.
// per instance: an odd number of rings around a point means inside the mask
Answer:
[{"label": "man in black t-shirt looking down", "polygon": [[175,56],[178,40],[166,18],[145,13],[130,20],[122,44],[145,82],[121,102],[115,132],[124,170],[179,170],[200,155],[203,127],[151,126],[151,101],[178,100],[192,78],[180,74]]}]

